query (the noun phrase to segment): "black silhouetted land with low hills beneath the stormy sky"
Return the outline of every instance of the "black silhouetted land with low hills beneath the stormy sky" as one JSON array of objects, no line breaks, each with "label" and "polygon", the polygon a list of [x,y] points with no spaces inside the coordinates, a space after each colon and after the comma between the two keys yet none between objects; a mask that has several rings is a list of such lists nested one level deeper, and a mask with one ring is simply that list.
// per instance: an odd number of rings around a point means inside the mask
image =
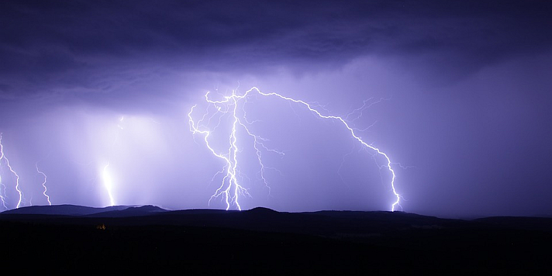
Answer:
[{"label": "black silhouetted land with low hills beneath the stormy sky", "polygon": [[552,273],[552,219],[538,217],[34,206],[1,213],[0,238],[3,270],[21,273]]}]

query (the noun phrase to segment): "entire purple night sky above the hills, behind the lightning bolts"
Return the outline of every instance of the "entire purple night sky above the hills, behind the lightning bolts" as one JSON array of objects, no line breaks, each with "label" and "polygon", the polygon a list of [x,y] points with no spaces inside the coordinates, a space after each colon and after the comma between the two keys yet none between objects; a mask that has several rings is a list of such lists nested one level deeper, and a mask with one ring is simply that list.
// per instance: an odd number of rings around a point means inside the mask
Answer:
[{"label": "entire purple night sky above the hills, behind the lightning bolts", "polygon": [[[373,103],[348,122],[393,161],[406,212],[552,215],[550,14],[509,0],[1,1],[3,152],[21,206],[48,204],[35,165],[52,204],[108,206],[109,164],[115,204],[226,208],[209,204],[224,162],[188,112],[255,86],[324,115]],[[243,110],[285,155],[262,153],[269,190],[237,134],[242,208],[390,210],[386,164],[342,124],[259,95]],[[15,208],[5,160],[0,177]]]}]

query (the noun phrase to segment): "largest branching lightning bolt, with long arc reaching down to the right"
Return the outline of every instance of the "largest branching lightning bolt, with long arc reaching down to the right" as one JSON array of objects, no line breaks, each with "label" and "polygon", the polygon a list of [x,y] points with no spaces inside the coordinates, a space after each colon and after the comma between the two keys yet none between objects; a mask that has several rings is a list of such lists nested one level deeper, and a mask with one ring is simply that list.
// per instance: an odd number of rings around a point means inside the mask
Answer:
[{"label": "largest branching lightning bolt, with long arc reaching down to the right", "polygon": [[[275,97],[277,99],[288,101],[289,103],[297,103],[299,104],[299,106],[303,106],[304,108],[307,108],[314,115],[316,115],[321,119],[333,120],[342,124],[342,126],[344,126],[344,128],[348,130],[351,137],[356,141],[358,141],[359,144],[361,144],[365,148],[373,150],[375,154],[384,157],[384,159],[386,160],[386,164],[383,166],[380,166],[380,168],[387,168],[388,172],[391,174],[390,186],[391,186],[391,190],[393,190],[393,195],[395,195],[395,201],[393,201],[393,203],[391,204],[391,211],[395,211],[395,208],[397,208],[397,206],[400,207],[401,195],[397,193],[397,190],[395,189],[396,175],[395,175],[395,170],[393,169],[393,166],[392,166],[393,163],[391,163],[391,159],[388,157],[388,155],[385,152],[380,150],[380,148],[376,148],[375,146],[368,144],[366,143],[366,141],[362,140],[362,138],[359,135],[357,135],[357,133],[355,132],[355,130],[357,129],[349,126],[349,124],[346,121],[348,117],[351,117],[355,113],[357,114],[357,117],[355,119],[360,117],[362,115],[362,110],[368,108],[368,106],[371,106],[374,102],[368,103],[370,99],[364,101],[364,105],[361,108],[357,108],[356,110],[353,110],[353,112],[347,115],[347,117],[344,119],[342,117],[335,116],[335,115],[324,115],[322,114],[322,112],[316,109],[312,103],[310,104],[302,100],[285,97],[275,92],[264,93],[264,92],[261,92],[256,87],[250,88],[250,90],[247,90],[246,92],[244,92],[243,95],[238,95],[236,94],[236,90],[233,90],[232,95],[224,96],[224,99],[221,99],[220,101],[210,99],[209,98],[210,92],[206,92],[206,94],[204,95],[205,100],[207,103],[210,104],[210,106],[215,107],[215,112],[213,112],[213,114],[210,115],[210,110],[208,108],[206,113],[204,113],[201,119],[199,119],[197,122],[192,117],[192,113],[194,112],[194,109],[197,107],[197,105],[192,106],[192,108],[190,108],[190,112],[188,112],[190,131],[193,133],[193,135],[203,135],[205,145],[210,150],[210,152],[213,155],[215,155],[215,157],[218,157],[219,159],[224,160],[224,163],[225,163],[223,169],[217,172],[217,174],[215,174],[215,177],[219,174],[225,174],[225,175],[224,175],[224,178],[222,179],[221,186],[219,186],[219,188],[211,196],[211,198],[209,199],[209,203],[212,199],[215,199],[217,197],[223,197],[224,201],[226,202],[226,210],[228,210],[230,206],[235,206],[239,210],[242,210],[242,207],[239,205],[238,197],[239,195],[249,196],[248,190],[244,188],[241,184],[239,184],[238,177],[237,177],[240,173],[238,169],[239,166],[238,166],[238,158],[237,158],[237,153],[239,152],[239,148],[237,147],[237,144],[236,144],[237,142],[236,133],[238,128],[245,130],[247,135],[249,135],[250,137],[253,137],[253,147],[257,152],[258,163],[259,163],[259,166],[261,167],[261,178],[267,187],[268,187],[268,182],[264,178],[264,169],[266,167],[262,163],[261,151],[259,150],[259,148],[263,148],[264,150],[269,150],[269,151],[277,152],[280,155],[284,155],[284,152],[279,152],[277,150],[270,150],[269,148],[266,148],[266,146],[264,146],[264,144],[262,143],[263,141],[266,141],[266,139],[263,139],[262,137],[254,135],[253,132],[250,132],[246,124],[250,125],[252,123],[247,121],[245,111],[243,111],[242,116],[238,116],[238,112],[237,112],[238,104],[244,101],[244,103],[242,103],[242,106],[244,106],[244,104],[247,102],[248,97],[253,93],[256,93],[257,95],[261,95],[263,97]],[[383,99],[380,99],[380,101],[382,100]],[[213,108],[210,108],[210,109],[213,109]],[[324,112],[327,112],[327,111],[324,110]],[[230,130],[230,135],[228,137],[229,146],[226,152],[217,152],[217,150],[215,150],[213,146],[211,146],[209,142],[210,141],[209,138],[212,132],[219,127],[221,123],[221,117],[226,114],[229,114],[232,119],[232,128]],[[208,125],[210,124],[211,120],[214,119],[217,115],[219,116],[218,124],[215,126],[215,128],[213,128],[213,130],[210,130],[208,128]],[[355,119],[353,119],[353,121]],[[362,131],[362,130],[359,130],[359,131]],[[215,177],[213,177],[213,180],[215,179]]]}]

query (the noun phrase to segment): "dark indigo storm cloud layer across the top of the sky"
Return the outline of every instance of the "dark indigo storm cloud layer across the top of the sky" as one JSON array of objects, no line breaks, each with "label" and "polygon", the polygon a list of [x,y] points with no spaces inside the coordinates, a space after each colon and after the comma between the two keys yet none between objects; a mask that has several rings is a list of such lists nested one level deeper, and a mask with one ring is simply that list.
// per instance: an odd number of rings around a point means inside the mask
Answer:
[{"label": "dark indigo storm cloud layer across the top of the sky", "polygon": [[[462,75],[551,47],[547,1],[3,1],[0,81],[11,91],[100,88],[100,72],[341,66],[428,55]],[[101,75],[101,74],[100,74]],[[14,83],[15,80],[15,83]],[[54,84],[55,83],[55,84]],[[7,90],[2,90],[6,93]]]}]

